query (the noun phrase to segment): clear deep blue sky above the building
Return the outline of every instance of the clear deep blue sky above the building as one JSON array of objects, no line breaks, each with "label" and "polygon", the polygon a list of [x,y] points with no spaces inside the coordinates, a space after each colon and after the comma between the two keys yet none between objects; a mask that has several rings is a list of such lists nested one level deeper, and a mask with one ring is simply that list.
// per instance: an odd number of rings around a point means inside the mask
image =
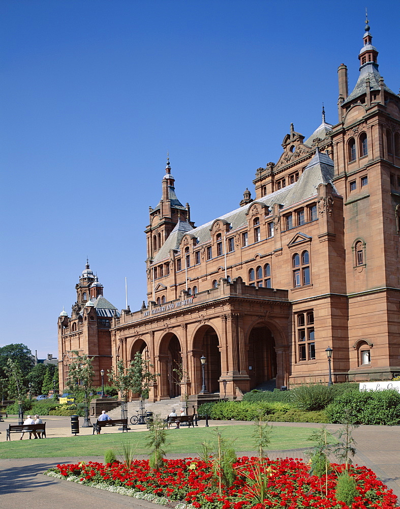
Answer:
[{"label": "clear deep blue sky above the building", "polygon": [[86,256],[110,302],[127,276],[139,308],[167,150],[197,225],[236,208],[291,122],[308,137],[322,102],[337,122],[365,4],[397,93],[398,1],[3,0],[0,346],[57,354]]}]

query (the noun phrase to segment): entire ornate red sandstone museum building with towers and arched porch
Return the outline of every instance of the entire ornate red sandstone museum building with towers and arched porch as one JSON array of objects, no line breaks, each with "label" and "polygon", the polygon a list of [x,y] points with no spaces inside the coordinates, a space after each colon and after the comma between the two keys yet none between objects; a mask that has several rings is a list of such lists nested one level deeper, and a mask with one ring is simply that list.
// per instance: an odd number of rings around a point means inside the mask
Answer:
[{"label": "entire ornate red sandstone museum building with towers and arched porch", "polygon": [[325,382],[328,346],[333,381],[400,373],[400,98],[368,26],[363,40],[350,94],[339,67],[339,122],[323,114],[306,139],[291,125],[238,209],[195,227],[167,163],[146,228],[148,304],[119,316],[87,265],[58,320],[61,387],[71,350],[97,372],[143,353],[160,374],[154,400],[198,394],[202,355],[207,391],[229,399]]}]

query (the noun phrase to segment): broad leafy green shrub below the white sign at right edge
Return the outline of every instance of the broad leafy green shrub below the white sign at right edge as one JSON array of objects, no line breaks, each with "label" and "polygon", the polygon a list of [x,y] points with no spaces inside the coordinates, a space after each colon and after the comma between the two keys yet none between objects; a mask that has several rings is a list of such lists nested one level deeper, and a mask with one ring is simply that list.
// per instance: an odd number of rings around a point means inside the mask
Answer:
[{"label": "broad leafy green shrub below the white sign at right edge", "polygon": [[345,392],[326,409],[330,422],[341,422],[345,411],[355,424],[400,424],[400,394],[394,389]]}]

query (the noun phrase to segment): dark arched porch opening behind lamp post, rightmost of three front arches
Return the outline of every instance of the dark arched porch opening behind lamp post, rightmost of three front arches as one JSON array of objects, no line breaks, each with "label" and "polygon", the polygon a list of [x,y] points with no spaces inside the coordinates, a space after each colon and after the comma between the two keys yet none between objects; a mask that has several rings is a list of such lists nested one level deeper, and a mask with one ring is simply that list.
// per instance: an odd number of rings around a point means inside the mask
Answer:
[{"label": "dark arched porch opening behind lamp post, rightmost of three front arches", "polygon": [[221,377],[221,353],[217,332],[209,325],[203,325],[196,332],[193,342],[194,365],[196,370],[195,392],[198,394],[202,387],[202,369],[200,357],[204,355],[204,382],[207,392],[220,392],[219,379]]}]

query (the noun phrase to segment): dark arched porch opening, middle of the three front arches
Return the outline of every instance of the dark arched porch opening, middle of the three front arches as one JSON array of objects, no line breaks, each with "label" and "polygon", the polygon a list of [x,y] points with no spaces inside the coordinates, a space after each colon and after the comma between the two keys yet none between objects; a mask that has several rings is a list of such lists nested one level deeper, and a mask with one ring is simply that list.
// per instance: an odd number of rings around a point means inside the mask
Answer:
[{"label": "dark arched porch opening, middle of the three front arches", "polygon": [[181,347],[178,337],[169,333],[160,345],[161,384],[163,393],[175,398],[180,395],[180,371],[182,366]]}]

